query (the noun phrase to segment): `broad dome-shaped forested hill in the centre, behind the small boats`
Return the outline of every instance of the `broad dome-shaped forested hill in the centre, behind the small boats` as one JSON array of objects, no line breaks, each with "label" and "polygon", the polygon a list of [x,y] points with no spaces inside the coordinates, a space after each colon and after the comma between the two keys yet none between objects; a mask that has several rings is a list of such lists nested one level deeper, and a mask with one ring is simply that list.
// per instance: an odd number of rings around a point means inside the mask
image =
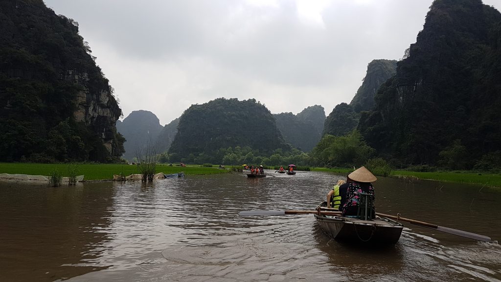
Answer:
[{"label": "broad dome-shaped forested hill in the centre, behind the small boats", "polygon": [[260,156],[275,150],[290,152],[271,112],[255,99],[218,98],[191,105],[179,118],[169,149],[170,161],[183,158],[222,162],[221,148],[249,147]]}]

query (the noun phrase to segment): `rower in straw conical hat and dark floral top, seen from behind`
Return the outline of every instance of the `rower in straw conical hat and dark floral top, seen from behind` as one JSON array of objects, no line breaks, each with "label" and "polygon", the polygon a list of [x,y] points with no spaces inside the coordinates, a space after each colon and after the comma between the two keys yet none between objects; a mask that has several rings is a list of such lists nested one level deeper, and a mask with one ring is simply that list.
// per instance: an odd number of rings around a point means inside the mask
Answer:
[{"label": "rower in straw conical hat and dark floral top, seen from behind", "polygon": [[[346,185],[346,197],[343,202],[343,206],[341,211],[343,212],[343,216],[356,216],[358,212],[358,205],[360,204],[360,194],[370,194],[369,196],[371,201],[371,210],[374,216],[374,186],[372,186],[371,182],[377,180],[377,178],[365,167],[360,167],[354,172],[348,175],[349,181],[344,184]],[[340,186],[340,189],[343,189],[343,186]]]}]

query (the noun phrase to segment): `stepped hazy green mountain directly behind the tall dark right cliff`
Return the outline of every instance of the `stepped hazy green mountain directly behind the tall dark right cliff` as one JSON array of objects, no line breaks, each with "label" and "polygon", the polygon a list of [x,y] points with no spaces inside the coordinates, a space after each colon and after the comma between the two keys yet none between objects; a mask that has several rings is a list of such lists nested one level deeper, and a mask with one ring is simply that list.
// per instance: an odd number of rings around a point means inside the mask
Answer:
[{"label": "stepped hazy green mountain directly behind the tall dark right cliff", "polygon": [[325,121],[323,134],[342,136],[355,129],[360,119],[360,112],[374,107],[374,95],[377,89],[395,74],[396,63],[395,60],[383,59],[370,62],[362,85],[351,103],[341,103],[334,107]]}]

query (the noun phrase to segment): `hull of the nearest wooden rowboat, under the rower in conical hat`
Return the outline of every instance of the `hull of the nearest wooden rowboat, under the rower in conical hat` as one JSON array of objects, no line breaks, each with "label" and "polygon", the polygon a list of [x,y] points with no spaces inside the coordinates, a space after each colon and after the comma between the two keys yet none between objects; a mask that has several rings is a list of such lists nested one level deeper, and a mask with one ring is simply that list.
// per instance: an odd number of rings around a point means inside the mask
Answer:
[{"label": "hull of the nearest wooden rowboat, under the rower in conical hat", "polygon": [[[327,208],[327,202],[321,203],[317,209],[335,211],[335,209]],[[379,216],[365,220],[365,218],[315,214],[315,218],[322,230],[337,241],[373,245],[395,244],[403,229],[401,223]]]}]

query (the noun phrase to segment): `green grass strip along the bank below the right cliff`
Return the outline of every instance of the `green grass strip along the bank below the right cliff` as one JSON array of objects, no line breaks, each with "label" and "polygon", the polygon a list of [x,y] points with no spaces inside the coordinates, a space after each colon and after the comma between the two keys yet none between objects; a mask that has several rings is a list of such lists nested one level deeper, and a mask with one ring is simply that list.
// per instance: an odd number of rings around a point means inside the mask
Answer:
[{"label": "green grass strip along the bank below the right cliff", "polygon": [[[341,175],[348,175],[351,169],[328,169],[312,168],[312,171],[333,172]],[[501,188],[501,175],[473,172],[412,172],[392,170],[390,177],[405,178],[412,180],[434,180],[440,182],[480,184],[488,187]]]}]

